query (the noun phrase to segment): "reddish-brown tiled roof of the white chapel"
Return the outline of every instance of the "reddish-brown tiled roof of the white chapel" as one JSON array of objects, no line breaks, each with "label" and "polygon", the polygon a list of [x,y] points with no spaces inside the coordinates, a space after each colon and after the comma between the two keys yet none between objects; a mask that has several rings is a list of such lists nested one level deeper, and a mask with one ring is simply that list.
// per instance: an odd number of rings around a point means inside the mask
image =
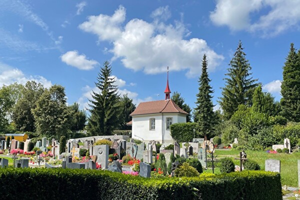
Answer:
[{"label": "reddish-brown tiled roof of the white chapel", "polygon": [[188,114],[186,111],[181,109],[178,105],[174,103],[171,99],[168,100],[155,100],[148,102],[141,102],[135,108],[135,110],[130,114],[153,114],[153,113],[182,113]]}]

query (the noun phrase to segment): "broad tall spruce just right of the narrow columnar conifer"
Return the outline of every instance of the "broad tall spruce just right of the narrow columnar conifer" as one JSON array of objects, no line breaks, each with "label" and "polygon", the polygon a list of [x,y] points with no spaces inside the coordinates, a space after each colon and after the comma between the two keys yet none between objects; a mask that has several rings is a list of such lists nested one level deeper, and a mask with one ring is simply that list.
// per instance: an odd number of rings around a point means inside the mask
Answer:
[{"label": "broad tall spruce just right of the narrow columnar conifer", "polygon": [[231,59],[228,68],[228,77],[224,78],[225,87],[222,87],[222,97],[218,101],[225,119],[229,119],[239,104],[251,106],[252,94],[258,83],[257,79],[251,77],[251,66],[245,58],[242,43],[239,40],[238,46]]}]

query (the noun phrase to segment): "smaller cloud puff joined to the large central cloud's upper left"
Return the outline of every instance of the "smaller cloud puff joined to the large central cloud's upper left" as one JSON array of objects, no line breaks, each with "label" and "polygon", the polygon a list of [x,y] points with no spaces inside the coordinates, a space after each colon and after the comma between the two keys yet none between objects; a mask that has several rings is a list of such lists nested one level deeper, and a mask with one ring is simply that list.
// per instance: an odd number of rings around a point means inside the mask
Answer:
[{"label": "smaller cloud puff joined to the large central cloud's upper left", "polygon": [[120,24],[125,20],[125,8],[120,5],[112,16],[99,14],[88,16],[88,20],[78,27],[86,32],[98,35],[99,40],[114,40],[121,35]]}]

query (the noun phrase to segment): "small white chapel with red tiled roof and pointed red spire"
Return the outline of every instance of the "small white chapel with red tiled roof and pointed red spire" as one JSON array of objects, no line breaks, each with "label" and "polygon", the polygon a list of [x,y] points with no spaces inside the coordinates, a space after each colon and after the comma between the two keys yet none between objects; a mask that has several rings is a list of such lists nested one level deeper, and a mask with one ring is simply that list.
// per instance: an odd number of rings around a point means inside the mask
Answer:
[{"label": "small white chapel with red tiled roof and pointed red spire", "polygon": [[168,70],[164,93],[164,100],[141,102],[130,114],[132,120],[128,124],[132,125],[132,138],[144,142],[150,140],[159,141],[160,143],[174,142],[170,135],[170,125],[186,122],[188,113],[170,99]]}]

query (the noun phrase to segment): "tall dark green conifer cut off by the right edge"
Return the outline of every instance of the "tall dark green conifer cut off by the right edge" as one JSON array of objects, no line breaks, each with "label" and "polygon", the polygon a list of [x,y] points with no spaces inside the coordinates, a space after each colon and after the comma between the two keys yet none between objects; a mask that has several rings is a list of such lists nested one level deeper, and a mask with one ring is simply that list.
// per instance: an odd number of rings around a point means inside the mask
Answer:
[{"label": "tall dark green conifer cut off by the right edge", "polygon": [[300,52],[296,53],[293,43],[283,66],[281,83],[281,115],[290,121],[300,121]]}]

